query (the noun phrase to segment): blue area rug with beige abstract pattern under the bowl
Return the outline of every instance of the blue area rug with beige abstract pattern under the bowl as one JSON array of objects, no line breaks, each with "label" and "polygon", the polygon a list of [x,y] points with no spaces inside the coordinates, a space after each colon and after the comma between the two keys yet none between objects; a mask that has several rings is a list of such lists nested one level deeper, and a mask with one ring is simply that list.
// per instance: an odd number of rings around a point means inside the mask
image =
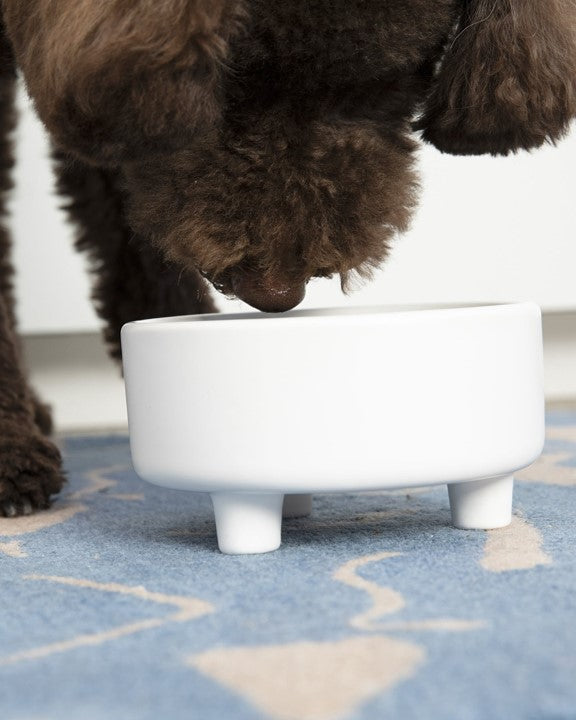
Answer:
[{"label": "blue area rug with beige abstract pattern under the bowl", "polygon": [[453,529],[445,488],[326,495],[256,556],[125,437],[62,445],[54,507],[0,519],[2,720],[576,718],[576,414],[509,528]]}]

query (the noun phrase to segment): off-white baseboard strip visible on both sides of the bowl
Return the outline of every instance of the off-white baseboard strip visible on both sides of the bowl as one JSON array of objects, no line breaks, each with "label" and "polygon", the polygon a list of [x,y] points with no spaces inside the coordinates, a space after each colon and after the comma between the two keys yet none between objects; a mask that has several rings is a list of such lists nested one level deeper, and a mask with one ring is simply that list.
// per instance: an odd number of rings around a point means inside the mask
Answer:
[{"label": "off-white baseboard strip visible on both sides of the bowl", "polygon": [[[576,312],[546,313],[543,328],[546,399],[576,401]],[[98,334],[29,336],[24,349],[58,431],[126,429],[120,370]]]}]

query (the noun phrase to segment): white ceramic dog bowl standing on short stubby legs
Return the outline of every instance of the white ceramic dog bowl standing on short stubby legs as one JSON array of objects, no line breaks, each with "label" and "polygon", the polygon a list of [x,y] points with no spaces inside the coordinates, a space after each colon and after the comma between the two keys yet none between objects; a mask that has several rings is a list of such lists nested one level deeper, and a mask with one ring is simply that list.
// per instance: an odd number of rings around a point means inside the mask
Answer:
[{"label": "white ceramic dog bowl standing on short stubby legs", "polygon": [[454,525],[502,527],[542,451],[532,303],[144,320],[122,350],[136,472],[209,492],[225,553],[276,549],[285,494],[446,483]]}]

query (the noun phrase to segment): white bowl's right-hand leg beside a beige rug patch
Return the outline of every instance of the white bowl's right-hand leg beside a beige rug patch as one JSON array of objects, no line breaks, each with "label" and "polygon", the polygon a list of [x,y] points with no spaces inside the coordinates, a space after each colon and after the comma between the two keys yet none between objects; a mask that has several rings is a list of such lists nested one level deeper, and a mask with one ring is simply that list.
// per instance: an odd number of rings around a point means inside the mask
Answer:
[{"label": "white bowl's right-hand leg beside a beige rug patch", "polygon": [[491,530],[512,520],[512,475],[448,485],[452,524],[463,530]]}]

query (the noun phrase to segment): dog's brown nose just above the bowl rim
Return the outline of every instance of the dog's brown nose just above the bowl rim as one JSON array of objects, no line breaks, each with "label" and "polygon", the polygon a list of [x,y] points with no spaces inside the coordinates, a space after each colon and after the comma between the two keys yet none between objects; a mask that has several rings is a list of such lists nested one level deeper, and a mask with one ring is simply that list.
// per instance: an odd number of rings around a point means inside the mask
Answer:
[{"label": "dog's brown nose just above the bowl rim", "polygon": [[306,283],[287,283],[239,270],[232,277],[234,294],[263,312],[286,312],[306,295]]}]

